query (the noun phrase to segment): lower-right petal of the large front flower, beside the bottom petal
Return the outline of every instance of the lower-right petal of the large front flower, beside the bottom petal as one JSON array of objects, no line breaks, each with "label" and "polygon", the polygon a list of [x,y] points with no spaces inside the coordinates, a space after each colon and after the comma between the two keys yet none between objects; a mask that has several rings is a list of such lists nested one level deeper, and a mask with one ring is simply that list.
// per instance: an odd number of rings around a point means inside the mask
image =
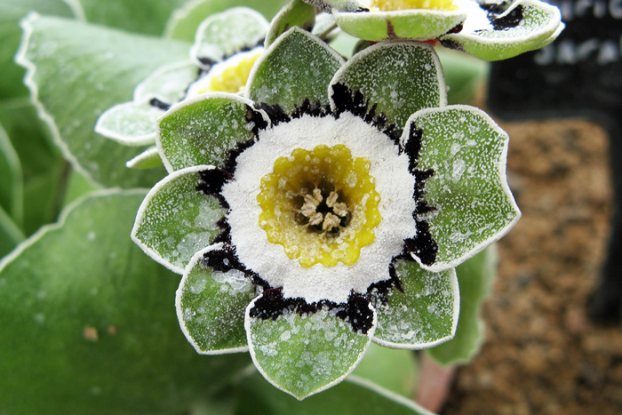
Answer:
[{"label": "lower-right petal of the large front flower, beside the bottom petal", "polygon": [[399,260],[395,271],[403,291],[393,289],[378,304],[373,341],[380,346],[419,349],[451,339],[459,314],[456,271],[435,273],[412,260]]}]

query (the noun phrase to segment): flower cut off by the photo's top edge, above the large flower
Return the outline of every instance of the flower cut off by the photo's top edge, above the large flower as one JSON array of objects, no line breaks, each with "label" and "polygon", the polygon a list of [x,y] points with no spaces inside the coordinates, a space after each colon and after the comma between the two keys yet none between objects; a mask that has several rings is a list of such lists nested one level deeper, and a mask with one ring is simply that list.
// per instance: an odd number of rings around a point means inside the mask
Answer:
[{"label": "flower cut off by the photo's top edge, above the large flower", "polygon": [[484,60],[504,60],[550,44],[564,25],[538,0],[305,0],[332,12],[339,27],[369,41],[439,39]]}]

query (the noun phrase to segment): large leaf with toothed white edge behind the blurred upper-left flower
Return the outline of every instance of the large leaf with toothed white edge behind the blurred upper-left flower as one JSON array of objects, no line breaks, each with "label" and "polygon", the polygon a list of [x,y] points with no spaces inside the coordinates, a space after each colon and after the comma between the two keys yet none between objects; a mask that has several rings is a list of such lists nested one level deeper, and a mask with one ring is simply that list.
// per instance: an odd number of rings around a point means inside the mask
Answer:
[{"label": "large leaf with toothed white edge behind the blurred upper-left flower", "polygon": [[130,35],[71,20],[30,15],[18,61],[39,115],[64,156],[104,186],[150,186],[162,171],[138,171],[125,161],[140,153],[93,132],[98,116],[132,99],[138,82],[163,63],[184,60],[187,44]]}]

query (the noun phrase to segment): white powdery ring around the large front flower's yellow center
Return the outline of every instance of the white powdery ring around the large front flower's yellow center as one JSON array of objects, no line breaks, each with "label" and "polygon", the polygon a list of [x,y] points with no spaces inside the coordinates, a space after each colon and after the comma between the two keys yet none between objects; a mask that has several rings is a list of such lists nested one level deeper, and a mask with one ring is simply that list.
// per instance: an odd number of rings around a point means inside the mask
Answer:
[{"label": "white powdery ring around the large front flower's yellow center", "polygon": [[[339,144],[349,148],[353,157],[370,160],[382,220],[373,229],[374,242],[361,249],[354,265],[301,267],[298,259],[287,257],[282,245],[269,243],[259,227],[261,178],[273,172],[278,157],[289,157],[296,148]],[[286,298],[340,303],[347,301],[351,290],[366,292],[371,283],[389,278],[391,259],[403,250],[403,240],[416,234],[415,179],[408,166],[408,156],[398,155],[397,146],[385,134],[349,113],[337,120],[303,116],[259,132],[259,141],[238,156],[235,180],[222,189],[231,208],[227,220],[239,259],[271,286],[283,287]]]}]

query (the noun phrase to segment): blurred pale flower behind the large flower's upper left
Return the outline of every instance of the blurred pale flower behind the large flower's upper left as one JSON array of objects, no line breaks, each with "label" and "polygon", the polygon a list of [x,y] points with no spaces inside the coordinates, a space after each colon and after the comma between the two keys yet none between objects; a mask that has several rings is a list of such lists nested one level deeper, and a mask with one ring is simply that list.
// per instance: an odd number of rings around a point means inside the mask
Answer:
[{"label": "blurred pale flower behind the large flower's upper left", "polygon": [[[190,60],[156,69],[136,86],[132,101],[100,116],[95,131],[128,146],[155,145],[156,120],[172,105],[205,92],[243,90],[252,65],[264,50],[267,27],[259,12],[246,7],[212,14],[196,30]],[[153,156],[155,148],[128,166],[150,166],[146,162]]]}]

